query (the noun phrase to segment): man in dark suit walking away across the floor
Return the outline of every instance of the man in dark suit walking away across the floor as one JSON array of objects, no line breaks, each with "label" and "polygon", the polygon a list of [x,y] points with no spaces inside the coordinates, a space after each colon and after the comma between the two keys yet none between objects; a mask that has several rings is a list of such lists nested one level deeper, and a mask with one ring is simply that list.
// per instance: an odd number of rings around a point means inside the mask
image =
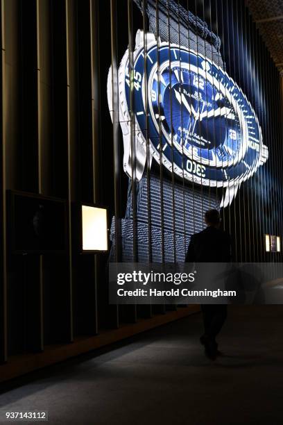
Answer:
[{"label": "man in dark suit walking away across the floor", "polygon": [[[231,260],[230,235],[220,229],[221,217],[218,210],[205,213],[207,228],[191,236],[186,263],[229,263]],[[205,333],[200,342],[205,346],[205,355],[212,360],[220,355],[216,335],[227,317],[227,304],[202,304]]]}]

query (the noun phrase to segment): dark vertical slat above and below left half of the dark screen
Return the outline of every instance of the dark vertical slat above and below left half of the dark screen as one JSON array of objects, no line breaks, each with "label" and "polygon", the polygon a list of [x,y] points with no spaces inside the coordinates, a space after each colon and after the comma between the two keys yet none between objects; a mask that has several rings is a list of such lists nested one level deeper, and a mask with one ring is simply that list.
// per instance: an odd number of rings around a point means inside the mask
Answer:
[{"label": "dark vertical slat above and below left half of the dark screen", "polygon": [[[18,58],[21,70],[19,102],[22,118],[21,135],[17,140],[19,143],[17,146],[21,149],[22,179],[18,184],[28,192],[41,193],[39,10],[37,0],[28,3],[18,1],[18,6],[17,16],[21,35],[21,51]],[[42,351],[42,256],[24,256],[22,265],[26,288],[23,303],[26,317],[26,348],[31,351]],[[16,264],[13,267],[17,267]]]}]

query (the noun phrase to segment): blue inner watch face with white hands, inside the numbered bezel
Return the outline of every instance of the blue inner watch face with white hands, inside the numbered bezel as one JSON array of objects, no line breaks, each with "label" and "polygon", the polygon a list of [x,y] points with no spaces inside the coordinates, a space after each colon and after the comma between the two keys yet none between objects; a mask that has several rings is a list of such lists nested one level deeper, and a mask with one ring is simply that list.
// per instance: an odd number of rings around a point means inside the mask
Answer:
[{"label": "blue inner watch face with white hands, inside the numbered bezel", "polygon": [[162,119],[164,130],[184,153],[194,147],[210,163],[237,157],[242,140],[237,113],[209,81],[185,67],[166,67],[160,81],[153,79],[151,90],[160,92],[160,103],[153,101],[155,119]]}]

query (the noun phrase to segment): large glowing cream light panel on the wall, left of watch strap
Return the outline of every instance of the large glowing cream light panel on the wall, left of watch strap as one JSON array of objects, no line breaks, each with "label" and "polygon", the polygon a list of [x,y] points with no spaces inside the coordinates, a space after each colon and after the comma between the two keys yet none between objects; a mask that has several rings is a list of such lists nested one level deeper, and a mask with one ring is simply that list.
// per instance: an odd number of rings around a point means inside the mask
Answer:
[{"label": "large glowing cream light panel on the wall, left of watch strap", "polygon": [[107,210],[82,206],[83,251],[108,251]]}]

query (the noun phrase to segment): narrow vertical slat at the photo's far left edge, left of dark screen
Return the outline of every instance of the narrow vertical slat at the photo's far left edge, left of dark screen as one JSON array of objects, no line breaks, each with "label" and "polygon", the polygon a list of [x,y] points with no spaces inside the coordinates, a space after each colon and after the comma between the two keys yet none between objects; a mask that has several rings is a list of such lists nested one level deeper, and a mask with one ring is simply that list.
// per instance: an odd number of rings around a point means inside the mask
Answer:
[{"label": "narrow vertical slat at the photo's far left edge, left of dark screen", "polygon": [[7,360],[7,253],[6,253],[6,101],[4,0],[1,0],[1,140],[0,140],[0,363]]}]

